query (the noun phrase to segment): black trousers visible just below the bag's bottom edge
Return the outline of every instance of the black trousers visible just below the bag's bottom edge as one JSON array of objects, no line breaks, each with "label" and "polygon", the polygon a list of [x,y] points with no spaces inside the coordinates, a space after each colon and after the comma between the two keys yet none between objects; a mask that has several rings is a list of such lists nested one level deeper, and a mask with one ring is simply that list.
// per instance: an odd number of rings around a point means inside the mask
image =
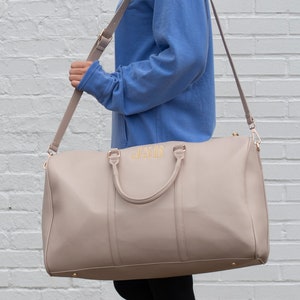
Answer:
[{"label": "black trousers visible just below the bag's bottom edge", "polygon": [[195,300],[192,276],[114,281],[114,286],[126,300]]}]

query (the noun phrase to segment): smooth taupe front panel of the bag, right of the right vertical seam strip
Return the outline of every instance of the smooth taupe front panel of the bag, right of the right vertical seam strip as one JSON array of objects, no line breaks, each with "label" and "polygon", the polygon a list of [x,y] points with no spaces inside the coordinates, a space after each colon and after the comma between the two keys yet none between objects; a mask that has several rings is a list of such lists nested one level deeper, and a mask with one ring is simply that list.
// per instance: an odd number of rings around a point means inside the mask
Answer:
[{"label": "smooth taupe front panel of the bag, right of the right vertical seam strip", "polygon": [[180,178],[190,260],[254,259],[255,240],[245,201],[248,138],[189,145]]}]

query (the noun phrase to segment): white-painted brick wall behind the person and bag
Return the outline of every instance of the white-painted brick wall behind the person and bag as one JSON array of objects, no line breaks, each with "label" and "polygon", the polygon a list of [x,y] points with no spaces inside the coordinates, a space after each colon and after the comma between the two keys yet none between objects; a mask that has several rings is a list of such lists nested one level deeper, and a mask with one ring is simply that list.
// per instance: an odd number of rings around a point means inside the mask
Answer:
[{"label": "white-painted brick wall behind the person and bag", "polygon": [[[111,282],[50,278],[41,204],[47,146],[84,59],[117,0],[0,0],[0,299],[120,299]],[[197,299],[296,300],[300,295],[300,1],[215,0],[263,138],[271,255],[263,267],[195,276]],[[214,26],[216,32],[216,27]],[[216,33],[216,136],[248,134]],[[113,70],[113,48],[102,59]],[[84,96],[64,149],[109,148],[110,114]]]}]

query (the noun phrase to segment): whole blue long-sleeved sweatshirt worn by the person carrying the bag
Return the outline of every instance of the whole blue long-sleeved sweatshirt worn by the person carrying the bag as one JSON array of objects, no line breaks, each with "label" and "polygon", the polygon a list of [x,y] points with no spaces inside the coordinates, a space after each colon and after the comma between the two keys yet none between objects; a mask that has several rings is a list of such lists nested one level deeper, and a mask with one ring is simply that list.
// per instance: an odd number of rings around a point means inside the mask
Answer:
[{"label": "whole blue long-sleeved sweatshirt worn by the person carrying the bag", "polygon": [[208,140],[215,127],[208,0],[132,0],[115,35],[116,71],[94,62],[78,89],[112,116],[112,147]]}]

